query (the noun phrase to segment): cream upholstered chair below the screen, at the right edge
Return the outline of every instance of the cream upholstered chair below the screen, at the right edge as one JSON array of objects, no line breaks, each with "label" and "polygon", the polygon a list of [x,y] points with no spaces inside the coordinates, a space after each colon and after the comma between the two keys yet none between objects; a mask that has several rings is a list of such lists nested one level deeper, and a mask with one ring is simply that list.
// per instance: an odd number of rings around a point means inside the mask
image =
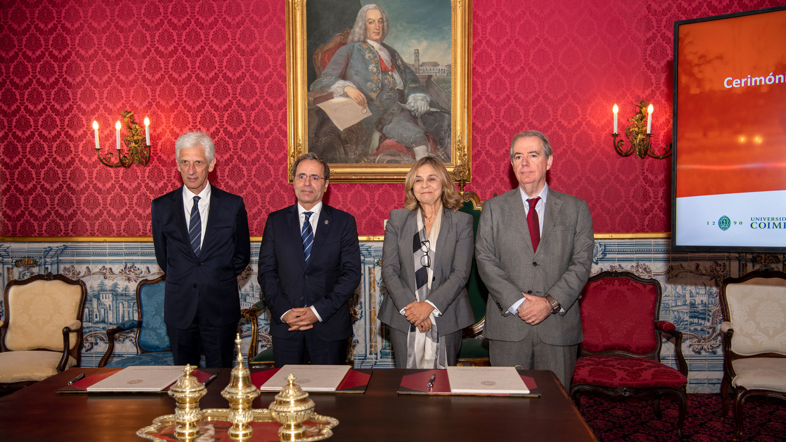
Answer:
[{"label": "cream upholstered chair below the screen, at the right edge", "polygon": [[742,438],[749,396],[786,400],[786,273],[754,271],[721,285],[723,381],[721,416],[734,396],[736,434]]}]

